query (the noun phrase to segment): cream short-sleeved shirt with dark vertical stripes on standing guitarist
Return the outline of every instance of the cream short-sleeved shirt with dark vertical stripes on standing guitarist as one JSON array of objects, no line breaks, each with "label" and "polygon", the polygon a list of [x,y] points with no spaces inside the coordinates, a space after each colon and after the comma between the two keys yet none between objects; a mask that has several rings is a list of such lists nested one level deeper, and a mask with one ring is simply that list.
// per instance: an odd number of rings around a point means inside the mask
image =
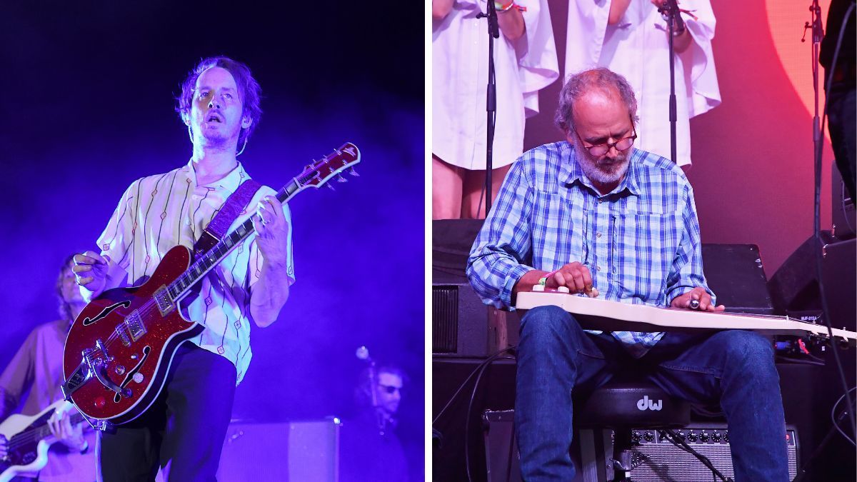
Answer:
[{"label": "cream short-sleeved shirt with dark vertical stripes on standing guitarist", "polygon": [[[111,280],[122,279],[127,274],[129,284],[138,286],[153,274],[172,247],[177,244],[193,247],[226,199],[246,179],[249,175],[239,162],[225,178],[200,186],[196,184],[193,163],[189,162],[171,172],[136,180],[125,190],[98,240],[101,255],[111,258]],[[255,213],[262,196],[273,194],[274,190],[262,186],[229,232]],[[283,211],[285,220],[291,225],[288,206],[284,205]],[[293,283],[291,229],[287,243],[288,275]],[[200,296],[183,310],[187,319],[206,327],[192,341],[228,358],[237,369],[236,383],[241,382],[253,358],[250,292],[259,280],[261,265],[262,255],[256,246],[255,234],[251,234],[213,268],[213,275],[210,273],[203,278]]]}]

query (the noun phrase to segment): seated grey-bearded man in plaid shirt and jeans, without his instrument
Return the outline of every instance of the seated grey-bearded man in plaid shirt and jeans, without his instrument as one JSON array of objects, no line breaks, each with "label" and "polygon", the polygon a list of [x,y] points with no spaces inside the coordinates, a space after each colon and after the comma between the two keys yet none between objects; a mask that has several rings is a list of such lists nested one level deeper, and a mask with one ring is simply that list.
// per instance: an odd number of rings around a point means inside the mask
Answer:
[{"label": "seated grey-bearded man in plaid shirt and jeans, without his instrument", "polygon": [[[567,142],[516,161],[470,251],[467,274],[485,303],[512,307],[539,284],[723,310],[703,274],[691,185],[670,160],[633,148],[636,113],[621,75],[591,69],[569,78],[556,114]],[[788,480],[779,377],[763,337],[584,331],[554,306],[530,310],[521,324],[515,429],[525,480],[573,479],[572,390],[629,371],[670,395],[720,404],[735,480]]]}]

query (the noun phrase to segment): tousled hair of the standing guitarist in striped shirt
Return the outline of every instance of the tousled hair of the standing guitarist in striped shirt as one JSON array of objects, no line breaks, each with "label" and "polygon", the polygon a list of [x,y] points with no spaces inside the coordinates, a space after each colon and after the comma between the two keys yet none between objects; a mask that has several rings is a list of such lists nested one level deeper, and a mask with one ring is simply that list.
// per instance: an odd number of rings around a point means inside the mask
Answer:
[{"label": "tousled hair of the standing guitarist in striped shirt", "polygon": [[259,87],[259,82],[253,78],[247,64],[238,62],[237,60],[232,60],[229,57],[203,58],[200,63],[197,63],[196,67],[188,73],[187,78],[184,79],[182,83],[182,93],[176,98],[178,101],[176,111],[178,112],[179,117],[182,118],[182,121],[189,116],[190,107],[194,99],[196,80],[203,72],[207,69],[211,69],[212,67],[220,67],[228,70],[232,75],[232,78],[235,79],[235,83],[238,87],[238,96],[241,99],[241,104],[243,106],[242,117],[249,117],[251,121],[249,127],[242,129],[241,134],[238,136],[238,146],[242,146],[244,142],[247,142],[250,135],[253,134],[253,131],[259,124],[259,120],[262,116],[262,109],[259,105],[262,89]]}]

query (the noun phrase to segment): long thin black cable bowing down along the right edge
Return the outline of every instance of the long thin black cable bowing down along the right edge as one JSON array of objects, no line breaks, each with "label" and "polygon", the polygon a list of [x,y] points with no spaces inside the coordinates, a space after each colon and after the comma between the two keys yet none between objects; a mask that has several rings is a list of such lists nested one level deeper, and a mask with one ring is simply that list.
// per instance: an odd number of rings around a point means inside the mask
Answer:
[{"label": "long thin black cable bowing down along the right edge", "polygon": [[[845,33],[845,25],[848,22],[848,18],[850,17],[852,11],[854,11],[854,2],[852,2],[850,5],[848,5],[848,10],[846,10],[845,16],[842,18],[842,26],[840,27],[840,30],[839,30],[839,37],[836,39],[836,49],[834,49],[834,51],[833,51],[833,61],[830,63],[830,72],[827,75],[827,83],[824,85],[830,85],[830,82],[833,81],[833,73],[836,70],[836,60],[839,57],[839,51],[842,48],[842,36]],[[822,117],[821,117],[821,132],[824,132],[824,122],[827,120],[827,107],[828,107],[829,102],[830,102],[830,96],[825,95],[824,96],[824,111],[822,111]],[[822,147],[822,143],[819,142],[818,147],[816,148],[817,150],[815,152],[815,164],[816,164],[817,170],[820,169],[820,167],[821,167],[821,147]],[[816,192],[815,192],[816,206],[820,205],[820,196],[821,196],[820,191],[821,191],[820,186],[816,185]],[[829,316],[830,310],[829,310],[829,306],[827,304],[827,297],[824,295],[824,279],[822,276],[822,268],[821,268],[822,257],[821,257],[821,250],[820,250],[821,246],[823,245],[822,244],[823,242],[821,239],[821,231],[820,231],[820,228],[818,227],[818,226],[821,226],[821,221],[819,218],[820,213],[818,212],[818,208],[815,209],[814,216],[815,216],[815,224],[813,226],[813,231],[815,231],[814,234],[815,234],[816,242],[818,243],[817,249],[815,250],[815,253],[816,253],[816,256],[815,256],[815,258],[816,258],[816,276],[818,277],[818,292],[819,292],[819,295],[821,298],[821,306],[822,306],[822,310],[824,310],[824,314],[825,314],[824,325],[827,327],[827,334],[828,334],[828,337],[830,340],[830,346],[831,346],[831,349],[833,350],[833,358],[836,361],[836,370],[839,372],[840,382],[842,382],[842,389],[845,391],[844,396],[848,402],[848,407],[854,407],[854,403],[851,401],[851,394],[849,393],[849,390],[848,390],[848,381],[846,381],[846,379],[845,379],[845,371],[842,369],[842,360],[839,358],[839,346],[837,346],[837,344],[836,344],[836,339],[833,336],[833,328],[830,324],[830,316]],[[854,418],[854,411],[852,410],[850,412],[851,413],[849,413],[848,419],[851,422],[851,433],[854,435],[857,435],[857,419]],[[838,427],[838,425],[837,425],[837,427]],[[843,435],[844,435],[844,433],[843,433]],[[850,438],[849,438],[849,440],[850,440]]]}]

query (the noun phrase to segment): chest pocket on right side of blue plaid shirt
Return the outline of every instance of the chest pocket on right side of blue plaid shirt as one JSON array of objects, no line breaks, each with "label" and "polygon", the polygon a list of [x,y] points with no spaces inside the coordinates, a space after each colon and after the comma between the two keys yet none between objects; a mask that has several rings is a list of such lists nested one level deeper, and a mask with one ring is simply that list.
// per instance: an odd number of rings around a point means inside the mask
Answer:
[{"label": "chest pocket on right side of blue plaid shirt", "polygon": [[613,266],[621,298],[663,304],[667,276],[678,251],[681,232],[675,213],[616,216]]}]

